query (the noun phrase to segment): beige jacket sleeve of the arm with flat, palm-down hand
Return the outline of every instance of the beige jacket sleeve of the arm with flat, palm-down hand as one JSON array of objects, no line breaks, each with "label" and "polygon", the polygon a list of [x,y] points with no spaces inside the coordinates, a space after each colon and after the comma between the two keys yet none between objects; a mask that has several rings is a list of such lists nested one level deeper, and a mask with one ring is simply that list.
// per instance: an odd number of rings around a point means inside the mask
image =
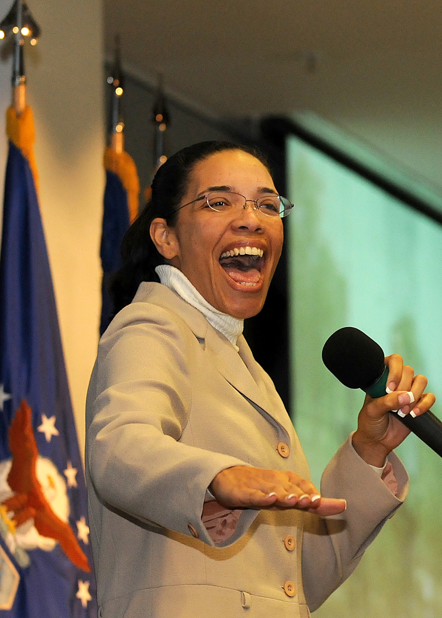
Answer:
[{"label": "beige jacket sleeve of the arm with flat, palm-down hand", "polygon": [[[193,528],[213,546],[201,521],[206,489],[221,470],[248,464],[179,442],[192,402],[191,341],[166,310],[158,308],[151,320],[135,314],[132,305],[132,319],[121,323],[119,314],[102,337],[89,387],[86,465],[93,489],[123,517],[188,536]],[[246,511],[217,546],[238,540],[257,514]]]}]

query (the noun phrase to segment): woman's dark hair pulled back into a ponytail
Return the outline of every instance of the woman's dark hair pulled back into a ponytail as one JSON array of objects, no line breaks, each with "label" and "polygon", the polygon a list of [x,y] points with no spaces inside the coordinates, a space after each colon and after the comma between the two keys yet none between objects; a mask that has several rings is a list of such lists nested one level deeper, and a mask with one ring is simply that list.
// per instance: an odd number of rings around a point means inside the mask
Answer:
[{"label": "woman's dark hair pulled back into a ponytail", "polygon": [[186,193],[195,164],[223,150],[242,150],[269,170],[269,164],[258,148],[230,142],[200,142],[167,159],[155,174],[150,201],[121,242],[122,266],[110,285],[114,315],[132,302],[142,281],[160,281],[155,268],[165,260],[150,238],[150,223],[160,217],[166,219],[168,226],[174,226],[178,218],[174,211]]}]

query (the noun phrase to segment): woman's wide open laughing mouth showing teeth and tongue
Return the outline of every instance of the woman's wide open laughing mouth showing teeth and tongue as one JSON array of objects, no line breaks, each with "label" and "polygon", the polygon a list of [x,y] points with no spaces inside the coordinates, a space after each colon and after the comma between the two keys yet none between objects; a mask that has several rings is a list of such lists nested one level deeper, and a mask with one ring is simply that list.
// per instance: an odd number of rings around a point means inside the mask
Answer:
[{"label": "woman's wide open laughing mouth showing teeth and tongue", "polygon": [[256,287],[266,258],[258,247],[234,247],[220,256],[220,265],[230,279],[246,287]]}]

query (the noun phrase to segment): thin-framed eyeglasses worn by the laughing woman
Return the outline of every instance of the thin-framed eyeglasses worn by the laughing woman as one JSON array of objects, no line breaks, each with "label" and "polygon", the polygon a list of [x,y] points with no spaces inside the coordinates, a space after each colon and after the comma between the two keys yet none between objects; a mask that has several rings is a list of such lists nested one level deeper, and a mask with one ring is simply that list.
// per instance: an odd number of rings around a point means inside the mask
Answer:
[{"label": "thin-framed eyeglasses worn by the laughing woman", "polygon": [[199,200],[206,200],[207,206],[217,213],[239,212],[241,208],[247,208],[248,201],[254,203],[253,210],[257,210],[268,217],[286,217],[293,208],[292,202],[281,195],[263,195],[258,200],[248,200],[241,193],[234,193],[233,191],[211,191],[207,195],[201,195],[195,200],[188,201],[187,204],[183,204],[173,213]]}]

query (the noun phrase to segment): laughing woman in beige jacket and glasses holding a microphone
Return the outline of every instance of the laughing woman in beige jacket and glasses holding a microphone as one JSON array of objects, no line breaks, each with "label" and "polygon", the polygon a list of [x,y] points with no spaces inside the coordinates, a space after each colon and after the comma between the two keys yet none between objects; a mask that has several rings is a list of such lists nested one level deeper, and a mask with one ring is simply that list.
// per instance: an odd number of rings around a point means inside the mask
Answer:
[{"label": "laughing woman in beige jacket and glasses holding a microphone", "polygon": [[290,207],[262,155],[205,142],[160,167],[126,235],[87,400],[103,618],[309,616],[405,498],[392,449],[409,432],[388,411],[428,410],[423,376],[386,359],[390,392],[366,397],[322,497],[241,335]]}]

